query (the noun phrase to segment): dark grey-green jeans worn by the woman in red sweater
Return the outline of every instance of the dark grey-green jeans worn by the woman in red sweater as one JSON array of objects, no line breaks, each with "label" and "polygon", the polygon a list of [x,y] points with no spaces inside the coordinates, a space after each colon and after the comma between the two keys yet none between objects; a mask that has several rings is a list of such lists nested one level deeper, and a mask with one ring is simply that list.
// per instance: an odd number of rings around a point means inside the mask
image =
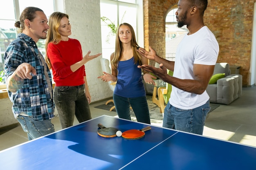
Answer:
[{"label": "dark grey-green jeans worn by the woman in red sweater", "polygon": [[72,126],[75,115],[79,123],[92,119],[84,84],[81,86],[55,86],[54,102],[62,128]]}]

